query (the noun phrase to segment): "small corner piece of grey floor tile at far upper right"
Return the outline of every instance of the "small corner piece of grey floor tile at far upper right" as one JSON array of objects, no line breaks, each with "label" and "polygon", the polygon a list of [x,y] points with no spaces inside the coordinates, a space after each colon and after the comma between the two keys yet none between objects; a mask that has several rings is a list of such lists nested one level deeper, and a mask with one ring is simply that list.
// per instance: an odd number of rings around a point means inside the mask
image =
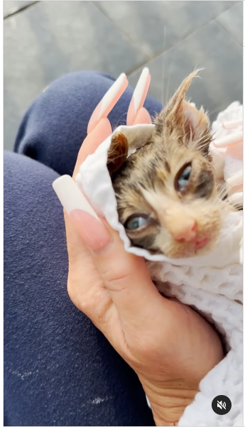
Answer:
[{"label": "small corner piece of grey floor tile at far upper right", "polygon": [[243,33],[243,1],[232,6],[230,9],[217,17],[217,22],[242,45]]}]

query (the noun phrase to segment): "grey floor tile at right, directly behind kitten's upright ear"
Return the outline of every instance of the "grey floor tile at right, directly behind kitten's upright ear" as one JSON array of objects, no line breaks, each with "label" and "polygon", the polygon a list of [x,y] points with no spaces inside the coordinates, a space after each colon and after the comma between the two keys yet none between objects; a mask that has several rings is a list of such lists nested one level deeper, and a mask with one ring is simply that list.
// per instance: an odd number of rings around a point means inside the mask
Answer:
[{"label": "grey floor tile at right, directly behind kitten's upright ear", "polygon": [[[202,80],[192,82],[187,95],[198,107],[202,104],[213,120],[220,109],[233,101],[242,102],[242,48],[215,21],[170,48],[149,62],[151,72],[149,94],[161,102],[169,99],[183,78],[195,67]],[[141,68],[129,76],[134,87]]]}]

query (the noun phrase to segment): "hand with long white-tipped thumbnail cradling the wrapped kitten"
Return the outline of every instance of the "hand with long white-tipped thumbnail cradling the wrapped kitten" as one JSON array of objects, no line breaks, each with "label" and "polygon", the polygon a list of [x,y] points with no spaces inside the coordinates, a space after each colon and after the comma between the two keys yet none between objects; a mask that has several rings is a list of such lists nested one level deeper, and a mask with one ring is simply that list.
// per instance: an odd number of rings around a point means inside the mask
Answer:
[{"label": "hand with long white-tipped thumbnail cradling the wrapped kitten", "polygon": [[[82,144],[73,179],[109,134],[102,119]],[[160,296],[143,258],[124,250],[117,232],[97,217],[70,176],[53,187],[65,211],[72,302],[138,374],[156,425],[178,425],[201,379],[222,360],[217,333],[190,307]]]}]

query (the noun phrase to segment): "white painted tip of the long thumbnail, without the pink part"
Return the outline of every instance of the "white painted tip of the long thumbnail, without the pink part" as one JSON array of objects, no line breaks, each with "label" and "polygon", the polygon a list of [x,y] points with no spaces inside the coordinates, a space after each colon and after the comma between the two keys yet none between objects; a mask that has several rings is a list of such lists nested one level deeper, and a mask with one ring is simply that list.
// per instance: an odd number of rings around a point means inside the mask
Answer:
[{"label": "white painted tip of the long thumbnail, without the pink part", "polygon": [[[91,205],[82,194],[80,189],[77,187],[75,182],[72,180],[70,175],[60,176],[57,180],[53,182],[53,189],[58,195],[62,207],[64,207],[67,215],[70,215],[70,212],[75,209],[83,210],[94,218],[99,220],[96,213],[94,212]],[[100,221],[100,220],[99,220]]]}]

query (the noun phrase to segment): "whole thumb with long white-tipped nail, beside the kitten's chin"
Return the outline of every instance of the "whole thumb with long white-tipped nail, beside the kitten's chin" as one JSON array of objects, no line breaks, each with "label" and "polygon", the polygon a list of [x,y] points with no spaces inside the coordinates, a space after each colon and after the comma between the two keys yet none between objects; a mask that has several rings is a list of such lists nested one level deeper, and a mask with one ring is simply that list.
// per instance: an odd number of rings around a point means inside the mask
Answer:
[{"label": "whole thumb with long white-tipped nail, beside the kitten's chin", "polygon": [[[61,180],[62,185],[57,186]],[[143,258],[125,251],[119,234],[99,219],[72,178],[68,175],[58,178],[54,188],[82,241],[92,249],[99,274],[119,315],[136,328],[143,325],[152,316],[152,305],[156,310],[162,308],[164,300],[153,285]]]}]

